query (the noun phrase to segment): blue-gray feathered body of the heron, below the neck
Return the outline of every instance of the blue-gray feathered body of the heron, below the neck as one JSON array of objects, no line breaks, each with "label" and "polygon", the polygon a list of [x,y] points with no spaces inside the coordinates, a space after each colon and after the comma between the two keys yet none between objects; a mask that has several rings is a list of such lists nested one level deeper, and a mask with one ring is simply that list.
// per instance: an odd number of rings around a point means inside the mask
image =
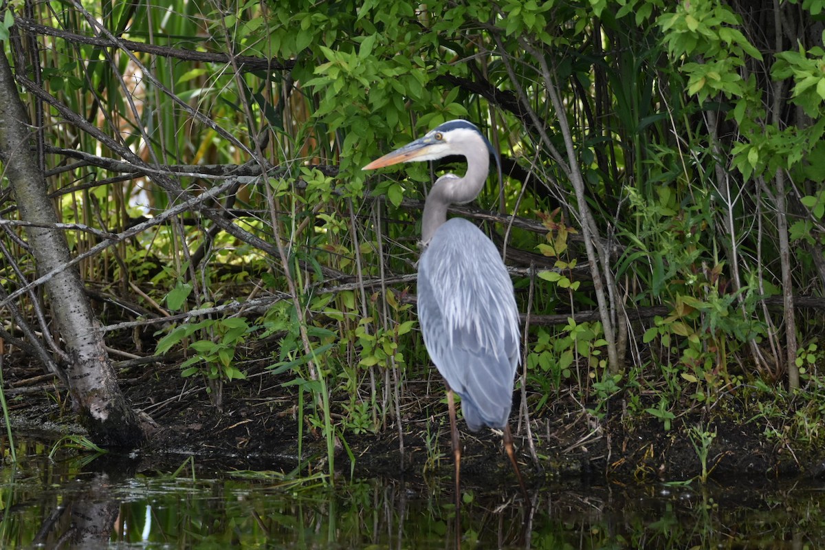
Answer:
[{"label": "blue-gray feathered body of the heron, below the neck", "polygon": [[465,219],[442,223],[418,263],[418,319],[432,362],[461,397],[470,430],[503,428],[519,361],[513,285],[493,242]]}]

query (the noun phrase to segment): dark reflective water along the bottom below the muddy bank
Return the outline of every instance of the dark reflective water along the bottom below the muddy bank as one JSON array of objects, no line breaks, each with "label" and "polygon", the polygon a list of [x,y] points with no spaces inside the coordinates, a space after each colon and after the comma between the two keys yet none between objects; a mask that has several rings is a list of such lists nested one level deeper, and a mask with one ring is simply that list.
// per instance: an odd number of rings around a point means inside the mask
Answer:
[{"label": "dark reflective water along the bottom below the muddy bank", "polygon": [[[455,548],[450,479],[299,480],[16,444],[0,548]],[[194,470],[192,466],[195,466]],[[194,471],[194,473],[193,473]],[[825,484],[467,484],[461,548],[825,548]]]}]

